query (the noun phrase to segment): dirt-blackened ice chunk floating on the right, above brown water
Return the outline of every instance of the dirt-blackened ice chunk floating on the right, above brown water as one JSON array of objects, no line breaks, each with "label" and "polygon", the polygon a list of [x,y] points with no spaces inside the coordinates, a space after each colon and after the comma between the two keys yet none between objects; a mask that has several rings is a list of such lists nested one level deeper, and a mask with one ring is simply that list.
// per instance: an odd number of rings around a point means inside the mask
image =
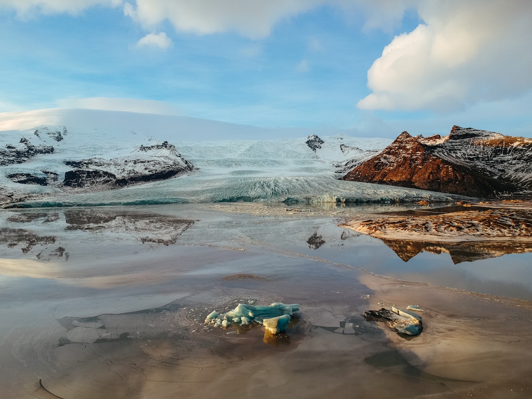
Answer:
[{"label": "dirt-blackened ice chunk floating on the right, above brown water", "polygon": [[[410,305],[406,309],[422,311],[417,305]],[[423,330],[423,323],[419,314],[397,309],[395,306],[392,306],[391,311],[384,307],[380,310],[366,310],[364,317],[370,320],[384,321],[390,329],[401,334],[418,335]]]}]

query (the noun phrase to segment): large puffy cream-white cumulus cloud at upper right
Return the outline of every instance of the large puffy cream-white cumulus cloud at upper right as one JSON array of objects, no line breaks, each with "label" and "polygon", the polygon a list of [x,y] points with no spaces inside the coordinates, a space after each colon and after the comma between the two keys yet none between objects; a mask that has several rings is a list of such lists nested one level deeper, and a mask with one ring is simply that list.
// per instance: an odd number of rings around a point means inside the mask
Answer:
[{"label": "large puffy cream-white cumulus cloud at upper right", "polygon": [[361,109],[452,111],[532,88],[532,2],[420,2],[423,20],[368,71]]}]

